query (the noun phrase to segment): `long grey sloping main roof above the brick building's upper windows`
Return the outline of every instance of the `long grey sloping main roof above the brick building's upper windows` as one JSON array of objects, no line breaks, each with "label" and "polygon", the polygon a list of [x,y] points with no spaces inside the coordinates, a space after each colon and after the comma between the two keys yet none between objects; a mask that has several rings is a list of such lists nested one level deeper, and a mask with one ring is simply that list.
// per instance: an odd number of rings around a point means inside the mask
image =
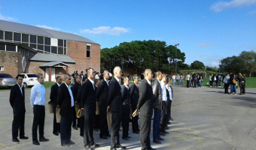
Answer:
[{"label": "long grey sloping main roof above the brick building's upper windows", "polygon": [[53,38],[58,38],[62,40],[73,40],[73,41],[84,42],[84,43],[93,43],[93,44],[99,45],[99,43],[96,43],[93,40],[90,40],[86,37],[79,36],[77,34],[66,33],[63,31],[55,31],[47,28],[30,26],[30,25],[25,25],[21,23],[13,23],[5,20],[0,20],[0,29],[7,30],[7,31],[17,31],[17,32],[26,33],[26,34],[35,34],[35,35],[41,35],[46,37],[53,37]]}]

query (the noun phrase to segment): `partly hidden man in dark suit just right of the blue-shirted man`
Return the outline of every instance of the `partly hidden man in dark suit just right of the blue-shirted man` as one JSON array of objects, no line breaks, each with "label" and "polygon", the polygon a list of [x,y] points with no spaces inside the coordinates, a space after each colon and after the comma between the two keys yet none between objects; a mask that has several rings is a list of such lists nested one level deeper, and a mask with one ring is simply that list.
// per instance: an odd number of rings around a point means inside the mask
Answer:
[{"label": "partly hidden man in dark suit just right of the blue-shirted man", "polygon": [[60,76],[56,77],[56,84],[53,85],[50,89],[50,101],[53,102],[53,134],[59,136],[60,133],[60,124],[56,123],[56,106],[58,100],[58,91],[59,86],[62,83],[62,78]]}]

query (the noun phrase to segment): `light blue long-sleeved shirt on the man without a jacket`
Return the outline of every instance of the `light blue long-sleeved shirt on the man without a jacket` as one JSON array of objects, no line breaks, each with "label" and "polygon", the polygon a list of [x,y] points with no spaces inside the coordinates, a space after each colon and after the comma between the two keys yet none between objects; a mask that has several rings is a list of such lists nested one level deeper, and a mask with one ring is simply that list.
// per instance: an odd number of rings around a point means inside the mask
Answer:
[{"label": "light blue long-sleeved shirt on the man without a jacket", "polygon": [[44,86],[40,83],[36,84],[31,89],[31,95],[30,95],[30,102],[32,108],[34,108],[34,105],[41,105],[44,106],[45,102],[45,89]]}]

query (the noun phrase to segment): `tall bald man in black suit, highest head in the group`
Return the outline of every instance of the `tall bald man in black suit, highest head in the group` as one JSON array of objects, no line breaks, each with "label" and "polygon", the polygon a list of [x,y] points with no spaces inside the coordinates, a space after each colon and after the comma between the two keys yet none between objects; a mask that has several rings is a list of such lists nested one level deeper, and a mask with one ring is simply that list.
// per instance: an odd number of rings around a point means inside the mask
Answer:
[{"label": "tall bald man in black suit, highest head in the group", "polygon": [[111,111],[111,150],[116,148],[126,148],[120,145],[119,129],[122,115],[122,98],[120,88],[120,78],[122,70],[120,67],[114,68],[114,77],[109,86],[108,92],[108,109]]}]

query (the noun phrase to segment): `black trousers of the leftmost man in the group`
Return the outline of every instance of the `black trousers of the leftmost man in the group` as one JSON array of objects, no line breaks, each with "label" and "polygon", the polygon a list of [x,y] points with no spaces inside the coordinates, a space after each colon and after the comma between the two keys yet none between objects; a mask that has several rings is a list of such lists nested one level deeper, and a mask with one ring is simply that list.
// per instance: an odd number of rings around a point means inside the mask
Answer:
[{"label": "black trousers of the leftmost man in the group", "polygon": [[13,138],[17,138],[19,130],[20,130],[20,136],[25,135],[24,124],[25,124],[25,112],[14,113],[14,121],[11,126]]}]

